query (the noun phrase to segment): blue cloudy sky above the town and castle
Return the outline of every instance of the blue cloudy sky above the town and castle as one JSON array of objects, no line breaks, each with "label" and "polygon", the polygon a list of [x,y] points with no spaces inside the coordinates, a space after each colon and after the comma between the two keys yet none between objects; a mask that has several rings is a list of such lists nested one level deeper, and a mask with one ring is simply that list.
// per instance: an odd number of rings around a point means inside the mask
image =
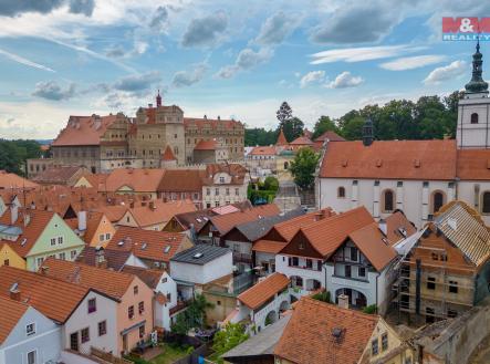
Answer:
[{"label": "blue cloudy sky above the town and castle", "polygon": [[[446,95],[471,75],[471,42],[442,17],[489,1],[0,0],[0,137],[54,138],[70,115],[185,116],[275,127],[288,101],[312,128],[393,98]],[[482,43],[490,77],[490,42]]]}]

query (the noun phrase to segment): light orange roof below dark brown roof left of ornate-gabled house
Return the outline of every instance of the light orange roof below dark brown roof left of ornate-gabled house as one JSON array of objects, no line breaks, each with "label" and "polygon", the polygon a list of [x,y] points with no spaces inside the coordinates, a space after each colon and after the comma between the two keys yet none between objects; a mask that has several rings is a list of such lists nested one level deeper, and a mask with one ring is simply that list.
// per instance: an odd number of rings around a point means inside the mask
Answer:
[{"label": "light orange roof below dark brown roof left of ornate-gabled house", "polygon": [[148,227],[157,223],[166,223],[175,215],[196,211],[196,205],[190,200],[177,200],[164,202],[160,200],[153,201],[153,208],[147,202],[146,206],[138,206],[129,209],[139,227]]}]

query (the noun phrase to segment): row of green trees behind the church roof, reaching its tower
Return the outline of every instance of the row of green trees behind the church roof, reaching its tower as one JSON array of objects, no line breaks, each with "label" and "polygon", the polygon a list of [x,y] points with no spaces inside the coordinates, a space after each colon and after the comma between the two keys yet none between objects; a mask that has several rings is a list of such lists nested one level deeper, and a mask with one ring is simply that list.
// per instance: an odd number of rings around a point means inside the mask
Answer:
[{"label": "row of green trees behind the church roof, reaching its tower", "polygon": [[[385,105],[367,105],[361,110],[352,110],[338,118],[321,116],[313,128],[313,138],[326,131],[334,131],[348,141],[361,139],[363,124],[371,118],[374,124],[375,137],[389,139],[441,139],[456,136],[458,101],[462,93],[455,91],[448,96],[421,96],[416,102],[393,100]],[[246,145],[274,144],[282,127],[288,142],[302,135],[303,122],[293,116],[286,102],[277,112],[278,127],[274,131],[264,128],[247,128]]]}]

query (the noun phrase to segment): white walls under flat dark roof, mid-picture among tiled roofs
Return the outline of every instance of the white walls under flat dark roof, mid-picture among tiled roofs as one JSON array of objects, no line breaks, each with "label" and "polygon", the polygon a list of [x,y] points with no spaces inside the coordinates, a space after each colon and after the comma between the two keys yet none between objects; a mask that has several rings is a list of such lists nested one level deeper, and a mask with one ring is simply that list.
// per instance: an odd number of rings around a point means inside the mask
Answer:
[{"label": "white walls under flat dark roof, mid-picture among tiled roofs", "polygon": [[232,253],[229,251],[204,266],[171,260],[170,272],[174,279],[206,284],[233,272]]}]

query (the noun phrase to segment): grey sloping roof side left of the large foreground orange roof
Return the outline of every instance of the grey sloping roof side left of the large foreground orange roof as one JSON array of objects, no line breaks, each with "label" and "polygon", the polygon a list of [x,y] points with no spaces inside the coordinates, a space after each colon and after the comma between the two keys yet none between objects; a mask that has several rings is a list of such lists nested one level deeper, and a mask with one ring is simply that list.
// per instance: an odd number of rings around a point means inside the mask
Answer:
[{"label": "grey sloping roof side left of the large foreground orange roof", "polygon": [[232,361],[233,358],[244,358],[257,355],[272,355],[274,347],[282,336],[285,325],[291,319],[291,314],[278,320],[272,325],[267,326],[257,335],[234,346],[222,355],[223,358]]}]

